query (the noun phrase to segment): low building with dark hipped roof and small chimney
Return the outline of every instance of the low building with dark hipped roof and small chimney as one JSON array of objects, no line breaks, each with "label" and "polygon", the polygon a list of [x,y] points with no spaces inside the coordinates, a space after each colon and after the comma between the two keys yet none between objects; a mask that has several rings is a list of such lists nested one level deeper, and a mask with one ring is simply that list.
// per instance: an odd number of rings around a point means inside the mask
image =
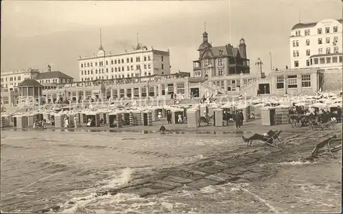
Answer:
[{"label": "low building with dark hipped roof and small chimney", "polygon": [[48,66],[47,72],[40,72],[34,79],[43,85],[43,89],[54,89],[58,83],[72,83],[73,77],[60,71],[51,71]]}]

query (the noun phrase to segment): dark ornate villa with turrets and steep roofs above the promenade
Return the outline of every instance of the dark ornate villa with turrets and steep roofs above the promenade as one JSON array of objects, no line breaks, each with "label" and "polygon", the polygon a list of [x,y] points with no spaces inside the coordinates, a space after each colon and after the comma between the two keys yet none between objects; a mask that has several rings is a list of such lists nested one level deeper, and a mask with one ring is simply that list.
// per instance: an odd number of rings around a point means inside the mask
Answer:
[{"label": "dark ornate villa with turrets and steep roofs above the promenade", "polygon": [[[193,77],[203,77],[209,85],[216,85],[227,92],[235,92],[254,75],[250,75],[250,60],[246,56],[246,42],[239,41],[238,48],[231,44],[212,46],[209,34],[204,31],[198,52],[193,61]],[[244,78],[241,78],[244,75]]]}]

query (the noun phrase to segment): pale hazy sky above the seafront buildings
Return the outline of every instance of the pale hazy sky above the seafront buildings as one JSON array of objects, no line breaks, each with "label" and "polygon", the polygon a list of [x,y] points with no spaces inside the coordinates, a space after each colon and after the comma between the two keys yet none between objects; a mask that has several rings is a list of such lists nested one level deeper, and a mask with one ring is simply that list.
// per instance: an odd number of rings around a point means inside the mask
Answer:
[{"label": "pale hazy sky above the seafront buildings", "polygon": [[342,18],[342,1],[1,1],[1,72],[38,68],[79,79],[78,57],[97,53],[99,30],[106,52],[139,42],[170,50],[171,72],[198,59],[204,23],[213,46],[246,40],[250,70],[289,65],[292,26]]}]

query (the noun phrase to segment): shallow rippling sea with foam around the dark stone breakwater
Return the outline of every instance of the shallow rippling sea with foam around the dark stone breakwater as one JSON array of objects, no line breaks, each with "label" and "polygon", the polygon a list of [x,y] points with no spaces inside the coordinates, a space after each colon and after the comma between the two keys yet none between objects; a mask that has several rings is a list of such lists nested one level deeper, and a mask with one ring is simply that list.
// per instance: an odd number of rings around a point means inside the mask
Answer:
[{"label": "shallow rippling sea with foam around the dark stone breakwater", "polygon": [[[241,135],[1,131],[1,213],[338,213],[340,159],[273,163],[252,183],[96,196],[140,175],[220,155]],[[277,162],[277,161],[276,161]]]}]

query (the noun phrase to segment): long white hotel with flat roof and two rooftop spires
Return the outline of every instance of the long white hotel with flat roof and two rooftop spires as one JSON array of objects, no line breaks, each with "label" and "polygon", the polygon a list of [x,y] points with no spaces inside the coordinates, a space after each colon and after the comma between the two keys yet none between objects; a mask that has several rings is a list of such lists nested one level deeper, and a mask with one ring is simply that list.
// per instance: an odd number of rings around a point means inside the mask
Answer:
[{"label": "long white hotel with flat roof and two rooftop spires", "polygon": [[78,61],[80,81],[170,74],[169,50],[148,49],[141,44],[137,44],[133,51],[112,54],[106,53],[100,42],[97,55],[80,56]]}]

